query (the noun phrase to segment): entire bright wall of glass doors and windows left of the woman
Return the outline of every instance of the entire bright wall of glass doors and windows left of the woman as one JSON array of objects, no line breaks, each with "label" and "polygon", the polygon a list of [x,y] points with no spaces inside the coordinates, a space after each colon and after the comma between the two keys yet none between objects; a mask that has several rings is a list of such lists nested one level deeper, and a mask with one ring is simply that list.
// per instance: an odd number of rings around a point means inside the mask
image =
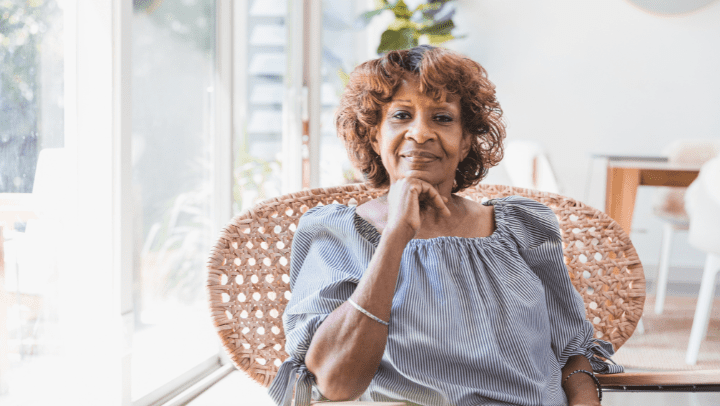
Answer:
[{"label": "entire bright wall of glass doors and windows left of the woman", "polygon": [[221,366],[204,262],[231,202],[299,190],[303,159],[347,180],[332,113],[364,58],[333,24],[363,10],[320,4],[0,0],[0,403],[160,404]]}]

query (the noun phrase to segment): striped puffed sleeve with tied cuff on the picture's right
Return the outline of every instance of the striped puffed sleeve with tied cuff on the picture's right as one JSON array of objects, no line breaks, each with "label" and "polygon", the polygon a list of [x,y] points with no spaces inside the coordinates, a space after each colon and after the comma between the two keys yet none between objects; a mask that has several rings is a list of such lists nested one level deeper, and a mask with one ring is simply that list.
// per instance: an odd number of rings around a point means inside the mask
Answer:
[{"label": "striped puffed sleeve with tied cuff on the picture's right", "polygon": [[518,196],[498,199],[493,204],[503,205],[505,226],[515,239],[520,256],[543,285],[552,350],[560,366],[573,355],[584,355],[595,372],[623,372],[623,367],[610,359],[614,354],[612,344],[593,337],[594,329],[586,318],[582,297],[568,276],[555,213],[542,203]]}]

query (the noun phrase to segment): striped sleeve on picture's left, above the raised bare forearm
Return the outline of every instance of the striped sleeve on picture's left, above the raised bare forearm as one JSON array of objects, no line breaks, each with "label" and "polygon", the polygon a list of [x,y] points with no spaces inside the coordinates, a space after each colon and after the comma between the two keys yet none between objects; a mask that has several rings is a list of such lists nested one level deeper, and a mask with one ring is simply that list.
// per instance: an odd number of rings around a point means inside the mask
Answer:
[{"label": "striped sleeve on picture's left, above the raised bare forearm", "polygon": [[290,259],[292,297],[283,313],[285,350],[290,358],[278,370],[269,393],[278,405],[310,404],[315,378],[305,355],[320,324],[347,301],[365,270],[358,248],[369,248],[345,206],[316,207],[303,215],[293,236]]}]

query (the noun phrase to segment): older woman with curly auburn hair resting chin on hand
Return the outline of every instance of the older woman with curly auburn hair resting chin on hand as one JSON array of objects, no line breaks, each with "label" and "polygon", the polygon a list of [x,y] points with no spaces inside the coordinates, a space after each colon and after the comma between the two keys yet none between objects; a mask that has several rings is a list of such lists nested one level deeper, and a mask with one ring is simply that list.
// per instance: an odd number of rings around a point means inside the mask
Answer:
[{"label": "older woman with curly auburn hair resting chin on hand", "polygon": [[600,404],[591,371],[621,367],[595,357],[612,347],[592,338],[553,212],[455,194],[502,157],[501,115],[485,70],[448,50],[355,69],[338,133],[387,193],[301,219],[276,402]]}]

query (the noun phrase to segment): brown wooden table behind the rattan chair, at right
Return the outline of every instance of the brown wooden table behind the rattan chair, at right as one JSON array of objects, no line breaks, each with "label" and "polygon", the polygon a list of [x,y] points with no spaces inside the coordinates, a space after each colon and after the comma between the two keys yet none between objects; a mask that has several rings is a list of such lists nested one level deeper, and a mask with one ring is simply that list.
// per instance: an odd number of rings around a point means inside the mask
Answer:
[{"label": "brown wooden table behind the rattan chair, at right", "polygon": [[690,186],[699,165],[670,164],[664,158],[607,157],[605,213],[630,234],[638,186]]}]

